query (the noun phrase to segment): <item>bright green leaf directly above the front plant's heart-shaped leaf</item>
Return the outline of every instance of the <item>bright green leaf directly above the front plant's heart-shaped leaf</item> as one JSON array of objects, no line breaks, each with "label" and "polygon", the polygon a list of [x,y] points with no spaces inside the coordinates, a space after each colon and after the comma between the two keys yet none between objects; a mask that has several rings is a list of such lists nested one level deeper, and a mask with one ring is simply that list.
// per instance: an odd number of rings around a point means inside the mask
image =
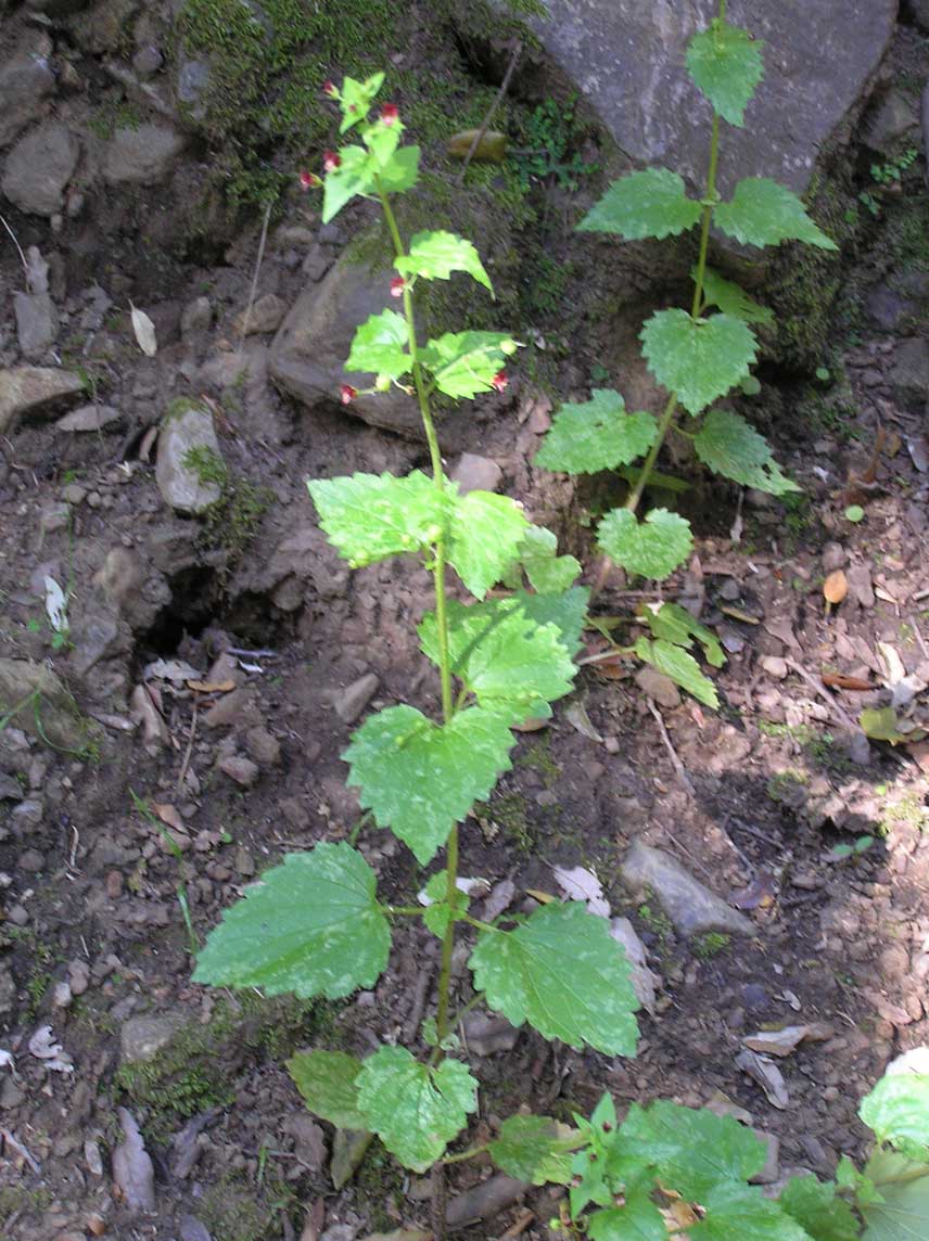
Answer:
[{"label": "bright green leaf directly above the front plant's heart-shaped leaf", "polygon": [[[430,612],[420,624],[424,654],[438,664],[438,625]],[[538,625],[517,599],[448,603],[452,671],[479,706],[509,724],[548,720],[550,702],[571,690],[575,666],[553,624]]]}]

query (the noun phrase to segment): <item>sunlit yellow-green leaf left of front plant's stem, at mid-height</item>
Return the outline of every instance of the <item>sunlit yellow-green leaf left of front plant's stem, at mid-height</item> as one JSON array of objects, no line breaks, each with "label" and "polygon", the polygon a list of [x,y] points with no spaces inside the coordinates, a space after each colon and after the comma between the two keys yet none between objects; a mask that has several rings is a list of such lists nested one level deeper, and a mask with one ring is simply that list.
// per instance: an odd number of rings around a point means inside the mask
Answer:
[{"label": "sunlit yellow-green leaf left of front plant's stem, at mid-height", "polygon": [[420,470],[406,478],[353,474],[308,483],[329,542],[359,568],[411,551],[425,551],[441,535],[451,513],[448,493],[440,493]]}]

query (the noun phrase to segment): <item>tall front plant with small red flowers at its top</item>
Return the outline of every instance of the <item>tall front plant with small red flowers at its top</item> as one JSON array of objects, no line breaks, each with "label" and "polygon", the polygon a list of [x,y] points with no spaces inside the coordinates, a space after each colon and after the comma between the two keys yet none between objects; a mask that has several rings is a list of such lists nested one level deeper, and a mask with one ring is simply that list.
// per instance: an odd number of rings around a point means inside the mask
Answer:
[{"label": "tall front plant with small red flowers at its top", "polygon": [[[376,1133],[400,1163],[425,1172],[446,1157],[477,1106],[478,1082],[457,1055],[461,1014],[452,1013],[460,931],[476,932],[473,995],[463,1009],[483,1003],[544,1037],[632,1055],[638,1005],[609,923],[582,903],[544,905],[504,925],[488,923],[473,917],[458,887],[458,824],[509,769],[512,728],[550,716],[550,704],[570,690],[587,592],[574,586],[578,562],[558,556],[554,535],[530,525],[512,499],[486,491],[462,496],[443,474],[433,396],[455,401],[502,390],[502,367],[517,343],[505,333],[467,330],[420,344],[421,282],[463,272],[488,292],[492,285],[477,249],[460,236],[433,230],[404,243],[392,196],[416,184],[420,151],[401,145],[394,104],[369,119],[383,81],[376,73],[364,82],[345,78],[342,88],[327,84],[340,104],[340,133],[358,129],[360,141],[327,153],[324,182],[310,172],[302,181],[324,185],[327,222],[356,195],[381,206],[399,310],[385,309],[358,328],[345,369],[374,379],[364,390],[347,382],[342,398],[376,400],[392,387],[414,396],[432,477],[354,474],[312,482],[309,491],[323,530],[353,567],[414,555],[432,573],[435,612],[419,635],[438,669],[441,719],[409,704],[386,707],[365,720],[343,757],[378,827],[390,828],[424,866],[445,849],[445,867],[428,877],[432,903],[424,908],[380,901],[374,870],[349,843],[289,854],[226,912],[194,977],[217,987],[338,999],[374,985],[387,964],[396,920],[421,920],[441,941],[436,1009],[421,1031],[425,1055],[381,1046],[360,1061],[317,1050],[294,1056],[288,1067],[313,1112]],[[476,602],[448,597],[450,570]],[[512,593],[488,598],[502,580]],[[524,1119],[512,1123],[519,1128]]]}]

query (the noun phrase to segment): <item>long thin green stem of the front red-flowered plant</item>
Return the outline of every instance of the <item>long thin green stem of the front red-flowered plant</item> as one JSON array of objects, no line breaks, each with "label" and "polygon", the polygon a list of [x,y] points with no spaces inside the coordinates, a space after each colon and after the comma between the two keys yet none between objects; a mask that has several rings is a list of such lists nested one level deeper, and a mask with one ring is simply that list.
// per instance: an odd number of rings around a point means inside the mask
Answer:
[{"label": "long thin green stem of the front red-flowered plant", "polygon": [[[378,185],[378,196],[380,197],[381,206],[384,208],[384,218],[387,222],[387,228],[390,231],[391,241],[394,242],[394,251],[397,258],[404,258],[406,256],[406,249],[404,247],[402,238],[400,237],[400,230],[397,228],[396,216],[390,206],[390,197],[384,192],[384,190]],[[420,362],[419,345],[416,341],[416,316],[412,304],[412,293],[409,284],[404,284],[404,318],[406,319],[406,326],[409,331],[410,340],[410,370],[412,371],[412,382],[416,388],[416,400],[420,406],[420,416],[422,418],[422,426],[426,431],[426,441],[428,443],[430,460],[432,462],[432,479],[435,482],[436,489],[442,493],[445,491],[445,478],[442,475],[442,454],[438,449],[438,436],[436,434],[436,424],[432,421],[432,411],[430,408],[430,390],[426,383],[426,379],[422,374],[422,365]],[[446,598],[446,582],[445,582],[445,566],[446,566],[446,549],[445,549],[445,535],[440,534],[436,539],[436,556],[432,565],[432,580],[435,585],[436,594],[436,633],[438,639],[438,675],[442,683],[442,719],[448,724],[455,715],[456,705],[452,697],[452,663],[448,652],[448,607]],[[447,864],[446,864],[446,900],[448,902],[448,908],[455,910],[455,897],[457,892],[457,879],[458,879],[458,828],[457,825],[452,828],[451,835],[448,836],[447,844]],[[436,1013],[436,1031],[438,1035],[440,1044],[445,1041],[448,1035],[448,1003],[451,997],[451,983],[452,983],[452,949],[455,948],[455,925],[456,918],[452,915],[448,918],[448,926],[442,936],[442,957],[441,965],[438,970],[438,1008]]]}]

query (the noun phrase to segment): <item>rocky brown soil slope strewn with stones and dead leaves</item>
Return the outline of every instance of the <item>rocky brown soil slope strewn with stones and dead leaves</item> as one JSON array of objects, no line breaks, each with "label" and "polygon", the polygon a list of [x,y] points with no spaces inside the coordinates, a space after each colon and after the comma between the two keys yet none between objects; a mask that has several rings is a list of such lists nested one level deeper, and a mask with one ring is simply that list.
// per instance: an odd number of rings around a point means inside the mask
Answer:
[{"label": "rocky brown soil slope strewn with stones and dead leaves", "polygon": [[[332,400],[387,277],[349,262],[364,208],[320,227],[296,195],[266,242],[253,212],[215,262],[166,247],[205,165],[201,139],[159,110],[166,53],[144,14],[125,47],[107,26],[118,5],[73,5],[83,25],[62,34],[67,7],[0,4],[0,213],[16,238],[0,246],[0,1232],[425,1227],[427,1186],[376,1144],[356,1167],[356,1137],[303,1111],[283,1060],[414,1039],[433,944],[400,938],[376,990],[338,1005],[190,983],[193,941],[256,874],[356,823],[339,753],[364,712],[436,706],[414,630],[427,576],[350,573],[304,485],[426,460],[402,402]],[[119,38],[137,6],[123,7]],[[132,74],[124,98],[106,93],[113,66]],[[862,120],[872,145],[821,370],[773,361],[744,402],[802,496],[693,479],[683,500],[697,552],[664,597],[719,633],[723,709],[589,663],[464,827],[463,872],[494,910],[558,895],[556,869],[582,867],[655,987],[631,1061],[471,1019],[478,1137],[522,1103],[569,1114],[609,1088],[735,1109],[769,1136],[768,1181],[830,1175],[864,1139],[858,1098],[927,1041],[929,742],[912,740],[929,728],[927,67],[920,27],[902,27]],[[101,92],[107,107],[147,99],[143,119],[94,128]],[[550,206],[550,261],[585,298],[549,288],[546,308],[537,263],[522,367],[443,421],[443,447],[462,485],[517,495],[590,562],[580,519],[599,485],[532,459],[556,393],[581,396],[605,364],[622,375],[590,243],[570,233],[579,207],[555,176],[532,192]],[[827,606],[837,572],[846,593]],[[611,585],[604,614],[632,623],[631,585]],[[889,705],[895,742],[868,740],[862,710]],[[387,833],[360,848],[387,890],[419,891]],[[785,1025],[802,1041],[753,1059],[755,1036]],[[451,1194],[463,1236],[549,1235],[550,1195],[479,1160]]]}]

